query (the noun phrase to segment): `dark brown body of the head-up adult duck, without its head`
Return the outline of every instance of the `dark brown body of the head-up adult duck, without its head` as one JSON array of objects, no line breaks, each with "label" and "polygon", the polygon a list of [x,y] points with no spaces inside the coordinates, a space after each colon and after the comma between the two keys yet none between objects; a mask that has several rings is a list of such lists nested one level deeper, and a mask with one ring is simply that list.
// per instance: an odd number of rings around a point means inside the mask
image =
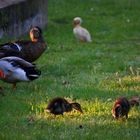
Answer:
[{"label": "dark brown body of the head-up adult duck, without its head", "polygon": [[0,45],[0,58],[8,56],[16,56],[23,58],[28,62],[33,62],[38,59],[46,50],[44,40],[33,42],[30,40],[18,40],[13,43]]}]

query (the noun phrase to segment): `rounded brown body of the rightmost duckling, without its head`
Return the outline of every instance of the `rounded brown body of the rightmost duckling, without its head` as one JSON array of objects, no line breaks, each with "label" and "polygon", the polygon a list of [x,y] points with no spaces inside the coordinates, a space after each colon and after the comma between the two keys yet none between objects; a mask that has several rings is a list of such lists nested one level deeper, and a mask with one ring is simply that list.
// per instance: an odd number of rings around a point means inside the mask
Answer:
[{"label": "rounded brown body of the rightmost duckling, without its head", "polygon": [[123,116],[128,118],[128,113],[130,110],[130,103],[125,97],[119,97],[116,99],[113,109],[112,109],[112,116],[115,119],[121,118]]}]

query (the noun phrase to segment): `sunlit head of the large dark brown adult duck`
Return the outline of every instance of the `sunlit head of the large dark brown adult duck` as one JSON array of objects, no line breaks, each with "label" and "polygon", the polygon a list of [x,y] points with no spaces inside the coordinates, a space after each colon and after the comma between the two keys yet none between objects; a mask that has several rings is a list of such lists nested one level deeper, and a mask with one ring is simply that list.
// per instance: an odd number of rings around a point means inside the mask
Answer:
[{"label": "sunlit head of the large dark brown adult duck", "polygon": [[33,42],[37,42],[39,39],[42,39],[42,30],[38,26],[31,28],[30,38]]}]

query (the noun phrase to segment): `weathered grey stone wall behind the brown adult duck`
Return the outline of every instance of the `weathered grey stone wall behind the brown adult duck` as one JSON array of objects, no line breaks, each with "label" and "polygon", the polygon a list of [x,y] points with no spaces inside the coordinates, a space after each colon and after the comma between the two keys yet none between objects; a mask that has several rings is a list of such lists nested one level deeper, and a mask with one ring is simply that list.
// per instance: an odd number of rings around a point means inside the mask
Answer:
[{"label": "weathered grey stone wall behind the brown adult duck", "polygon": [[0,38],[18,37],[47,24],[47,0],[0,0]]}]

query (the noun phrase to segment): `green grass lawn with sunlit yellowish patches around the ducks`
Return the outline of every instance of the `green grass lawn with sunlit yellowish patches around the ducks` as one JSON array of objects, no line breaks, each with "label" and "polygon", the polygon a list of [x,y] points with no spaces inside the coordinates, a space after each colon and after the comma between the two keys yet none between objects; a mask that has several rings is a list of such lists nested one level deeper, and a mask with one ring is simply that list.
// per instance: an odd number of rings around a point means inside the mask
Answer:
[{"label": "green grass lawn with sunlit yellowish patches around the ducks", "polygon": [[[16,91],[0,82],[5,89],[0,96],[0,140],[138,140],[139,107],[131,109],[128,120],[118,121],[111,109],[118,96],[139,95],[139,9],[139,0],[48,1],[48,50],[36,62],[42,76],[19,83]],[[75,16],[83,18],[92,43],[73,37]],[[84,114],[54,117],[44,112],[56,96],[79,102]]]}]

